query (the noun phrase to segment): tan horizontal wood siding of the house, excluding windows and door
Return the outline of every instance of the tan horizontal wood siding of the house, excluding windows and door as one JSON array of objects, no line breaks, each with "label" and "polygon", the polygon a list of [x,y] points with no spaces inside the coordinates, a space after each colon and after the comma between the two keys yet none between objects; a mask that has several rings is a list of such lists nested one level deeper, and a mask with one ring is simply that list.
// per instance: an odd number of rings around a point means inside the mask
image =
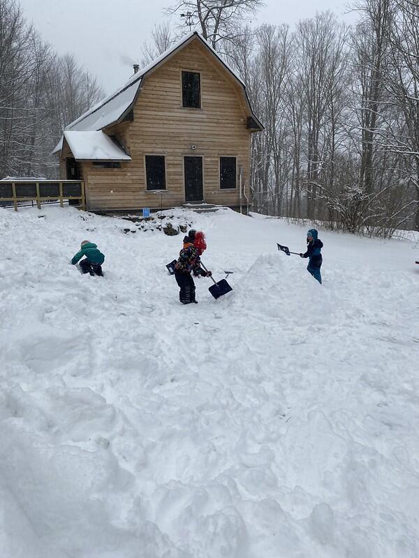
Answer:
[{"label": "tan horizontal wood siding of the house, excluding windows and door", "polygon": [[[200,73],[201,108],[182,107],[182,70]],[[132,160],[119,169],[98,169],[83,162],[87,204],[91,210],[159,207],[160,196],[146,189],[145,155],[166,156],[163,205],[185,202],[184,156],[203,157],[207,203],[237,206],[239,185],[221,190],[219,158],[235,156],[248,180],[250,130],[242,87],[199,40],[193,40],[142,82],[133,122],[105,129],[124,144]],[[192,150],[191,145],[196,149]]]}]

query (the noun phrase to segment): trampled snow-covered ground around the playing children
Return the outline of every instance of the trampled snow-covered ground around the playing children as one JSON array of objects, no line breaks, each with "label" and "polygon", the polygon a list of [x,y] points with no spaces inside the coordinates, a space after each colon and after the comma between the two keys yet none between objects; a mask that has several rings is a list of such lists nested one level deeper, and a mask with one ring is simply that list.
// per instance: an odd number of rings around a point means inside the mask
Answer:
[{"label": "trampled snow-covered ground around the playing children", "polygon": [[321,232],[318,285],[305,228],[178,215],[232,293],[179,304],[182,234],[0,210],[1,558],[418,557],[417,244]]}]

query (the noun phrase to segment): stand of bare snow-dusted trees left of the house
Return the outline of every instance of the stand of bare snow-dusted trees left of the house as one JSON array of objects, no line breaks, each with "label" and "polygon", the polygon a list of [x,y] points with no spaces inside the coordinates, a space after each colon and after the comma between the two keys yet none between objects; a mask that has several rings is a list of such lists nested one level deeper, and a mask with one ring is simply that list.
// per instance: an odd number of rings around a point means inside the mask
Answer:
[{"label": "stand of bare snow-dusted trees left of the house", "polygon": [[15,0],[0,0],[0,176],[50,176],[64,127],[103,96],[72,56],[59,58]]}]

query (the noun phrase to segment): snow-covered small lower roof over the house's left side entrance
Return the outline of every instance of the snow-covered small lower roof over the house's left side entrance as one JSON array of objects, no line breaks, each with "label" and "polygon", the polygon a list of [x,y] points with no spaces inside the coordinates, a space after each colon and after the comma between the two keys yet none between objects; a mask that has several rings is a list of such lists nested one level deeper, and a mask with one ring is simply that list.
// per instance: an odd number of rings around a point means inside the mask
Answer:
[{"label": "snow-covered small lower roof over the house's left side entrance", "polygon": [[130,161],[131,157],[102,131],[64,132],[66,142],[76,160]]}]

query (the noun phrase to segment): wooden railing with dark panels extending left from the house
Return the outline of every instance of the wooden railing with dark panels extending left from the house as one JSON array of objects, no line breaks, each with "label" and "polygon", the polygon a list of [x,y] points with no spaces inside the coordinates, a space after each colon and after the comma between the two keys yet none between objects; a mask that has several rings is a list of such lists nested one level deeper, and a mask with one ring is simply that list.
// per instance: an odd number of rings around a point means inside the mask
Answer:
[{"label": "wooden railing with dark panels extending left from the house", "polygon": [[0,181],[0,206],[15,206],[20,202],[36,202],[38,209],[45,202],[59,202],[64,206],[64,200],[78,200],[78,205],[86,209],[84,197],[84,181],[80,180],[42,180],[42,181]]}]

